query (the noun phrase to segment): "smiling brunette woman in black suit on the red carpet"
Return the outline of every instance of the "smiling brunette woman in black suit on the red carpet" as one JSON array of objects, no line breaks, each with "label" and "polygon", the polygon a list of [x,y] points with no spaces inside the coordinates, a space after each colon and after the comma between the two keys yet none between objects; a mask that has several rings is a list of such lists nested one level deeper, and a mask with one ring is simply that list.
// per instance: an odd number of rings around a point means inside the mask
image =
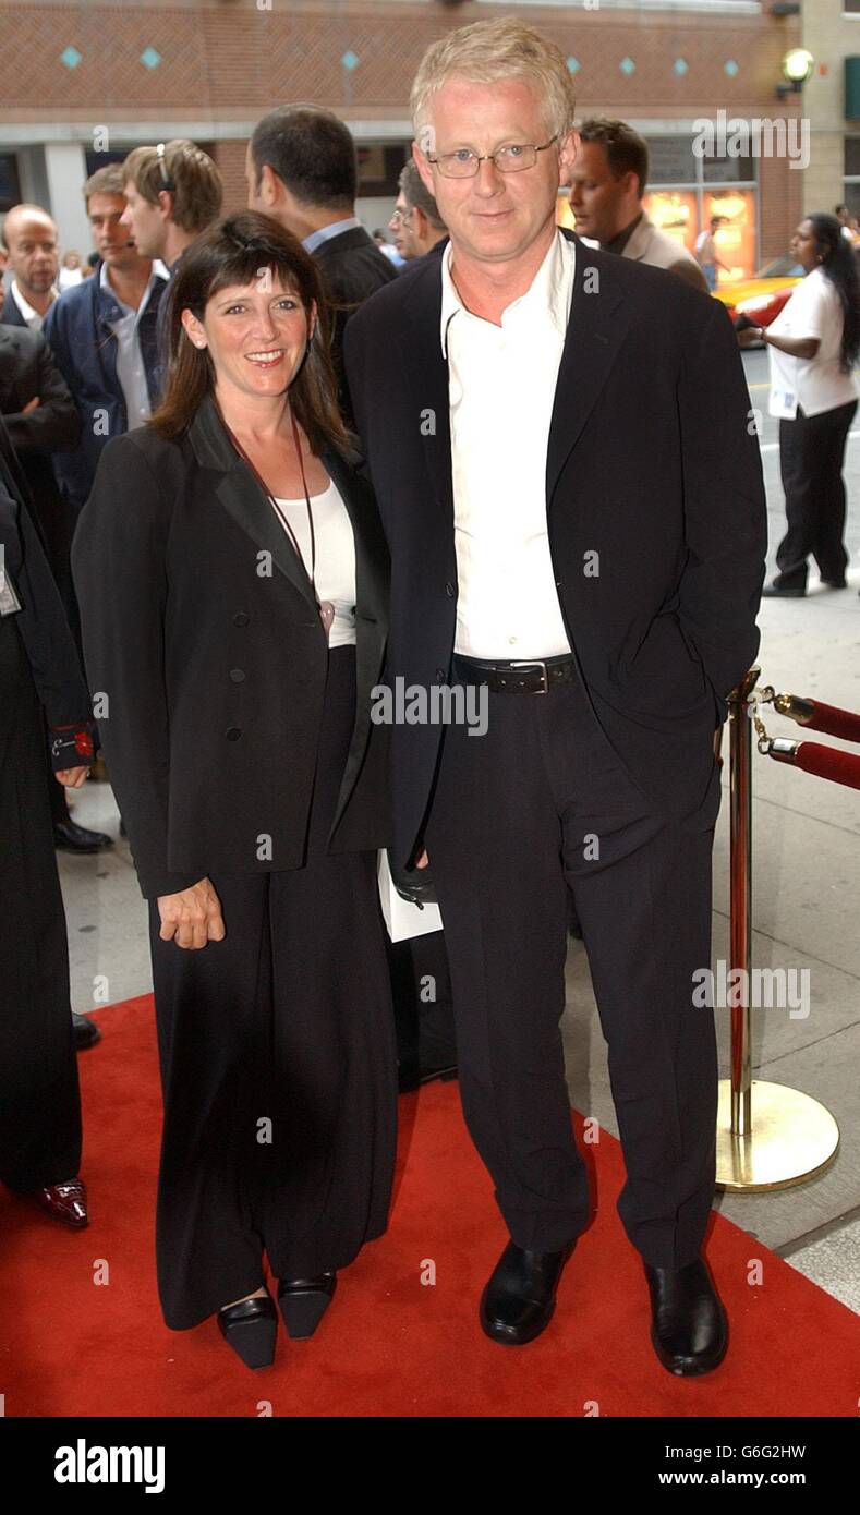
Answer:
[{"label": "smiling brunette woman in black suit on the red carpet", "polygon": [[159,1295],[273,1360],[386,1227],[397,1053],[369,718],[388,551],[336,409],[313,259],[277,221],[197,238],[167,398],[112,438],[73,565],[144,897],[164,1083]]}]

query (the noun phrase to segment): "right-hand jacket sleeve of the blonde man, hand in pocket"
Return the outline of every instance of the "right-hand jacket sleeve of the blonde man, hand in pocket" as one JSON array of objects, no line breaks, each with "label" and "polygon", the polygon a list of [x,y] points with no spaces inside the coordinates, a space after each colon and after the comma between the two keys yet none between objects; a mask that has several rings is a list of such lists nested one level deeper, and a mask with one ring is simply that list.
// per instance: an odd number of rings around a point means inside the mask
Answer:
[{"label": "right-hand jacket sleeve of the blonde man, hand in pocket", "polygon": [[724,700],[759,650],[768,515],[740,351],[718,300],[689,332],[678,421],[687,544],[678,618]]}]

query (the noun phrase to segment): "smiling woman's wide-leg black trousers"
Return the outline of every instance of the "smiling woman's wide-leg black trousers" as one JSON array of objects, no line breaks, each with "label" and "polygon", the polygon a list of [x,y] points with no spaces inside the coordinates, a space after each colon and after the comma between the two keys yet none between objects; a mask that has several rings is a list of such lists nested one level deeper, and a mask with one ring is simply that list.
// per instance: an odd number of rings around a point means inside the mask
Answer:
[{"label": "smiling woman's wide-leg black trousers", "polygon": [[213,877],[226,936],[198,951],[162,941],[150,906],[156,1262],[174,1330],[253,1294],[263,1251],[276,1277],[345,1268],[388,1224],[397,1053],[375,853],[326,850],[354,658],[329,658],[304,867]]}]

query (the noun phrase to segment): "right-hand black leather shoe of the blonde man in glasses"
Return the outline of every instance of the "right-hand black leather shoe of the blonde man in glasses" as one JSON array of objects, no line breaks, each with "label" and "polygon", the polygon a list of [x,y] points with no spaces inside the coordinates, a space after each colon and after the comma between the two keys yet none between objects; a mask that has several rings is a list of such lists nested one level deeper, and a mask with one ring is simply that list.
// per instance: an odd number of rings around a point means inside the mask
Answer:
[{"label": "right-hand black leather shoe of the blonde man in glasses", "polygon": [[704,1257],[686,1268],[651,1268],[651,1341],[660,1362],[683,1379],[712,1373],[728,1350],[728,1318]]}]

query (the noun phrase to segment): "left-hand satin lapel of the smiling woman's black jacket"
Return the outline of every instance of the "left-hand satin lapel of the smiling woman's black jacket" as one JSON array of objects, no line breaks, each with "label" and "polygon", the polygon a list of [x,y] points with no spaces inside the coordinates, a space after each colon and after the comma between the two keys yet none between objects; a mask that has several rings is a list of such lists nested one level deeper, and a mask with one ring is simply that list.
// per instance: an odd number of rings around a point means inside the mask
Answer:
[{"label": "left-hand satin lapel of the smiling woman's black jacket", "polygon": [[260,551],[270,553],[276,568],[304,600],[309,617],[316,618],[316,601],[295,548],[276,520],[266,495],[230,442],[209,395],[191,423],[188,435],[203,468],[220,473],[213,485],[220,503]]}]

